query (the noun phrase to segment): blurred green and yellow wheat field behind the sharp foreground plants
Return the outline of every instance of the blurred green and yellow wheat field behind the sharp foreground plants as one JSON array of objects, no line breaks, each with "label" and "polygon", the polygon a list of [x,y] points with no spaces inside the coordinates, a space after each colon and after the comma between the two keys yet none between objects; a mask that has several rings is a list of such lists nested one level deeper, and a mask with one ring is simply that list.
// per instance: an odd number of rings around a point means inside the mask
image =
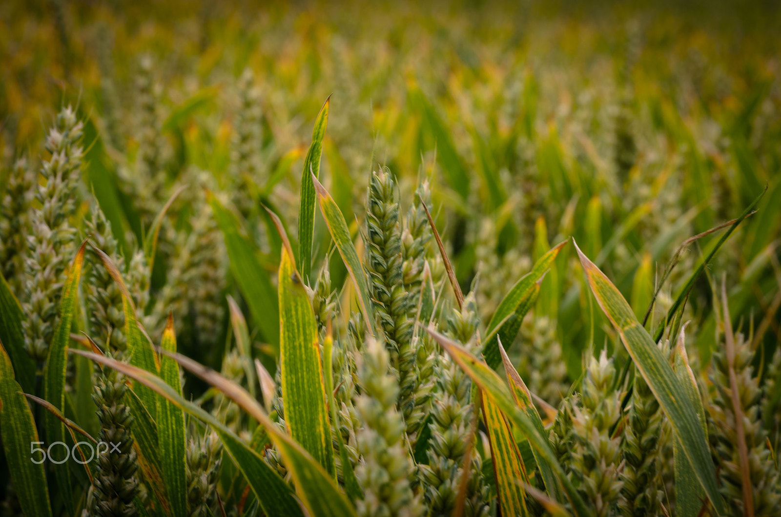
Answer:
[{"label": "blurred green and yellow wheat field behind the sharp foreground plants", "polygon": [[[188,194],[172,207],[170,231],[191,232],[187,207],[209,187],[236,206],[274,271],[279,243],[251,207],[273,205],[295,239],[301,166],[331,94],[320,176],[354,235],[372,169],[398,177],[403,210],[431,178],[458,280],[468,291],[480,278],[483,323],[533,260],[569,236],[642,316],[679,244],[738,216],[767,186],[714,270],[732,286],[735,323],[767,323],[760,338],[772,354],[781,336],[779,16],[773,2],[3,2],[0,163],[40,161],[45,128],[72,103],[87,119],[84,187],[121,250],[143,242],[148,214],[181,184]],[[256,126],[243,162],[251,176],[237,188],[242,123]],[[150,142],[154,169],[139,176]],[[652,328],[718,238],[684,255]],[[211,281],[166,294],[176,242],[161,237],[148,313]],[[318,214],[315,268],[329,243]],[[339,289],[346,270],[333,255]],[[583,352],[612,350],[615,333],[590,304],[574,252],[564,255],[537,305],[551,328],[526,337],[543,349],[560,343],[576,380]],[[719,279],[703,277],[686,309],[702,365],[718,321],[708,280]],[[234,283],[229,276],[215,297],[217,343],[228,327],[222,294],[246,304]],[[219,367],[221,353],[192,342],[180,346]]]}]

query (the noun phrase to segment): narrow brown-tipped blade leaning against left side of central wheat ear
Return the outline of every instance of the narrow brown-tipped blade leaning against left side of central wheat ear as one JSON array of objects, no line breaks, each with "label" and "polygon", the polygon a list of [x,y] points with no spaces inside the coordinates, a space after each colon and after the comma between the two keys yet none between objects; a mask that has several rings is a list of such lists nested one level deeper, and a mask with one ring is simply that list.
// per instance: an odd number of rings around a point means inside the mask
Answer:
[{"label": "narrow brown-tipped blade leaning against left side of central wheat ear", "polygon": [[320,184],[316,177],[312,176],[312,183],[320,201],[320,211],[323,212],[323,218],[326,219],[326,225],[333,238],[333,243],[337,245],[339,255],[347,266],[350,278],[355,285],[355,294],[358,297],[358,306],[361,308],[363,318],[366,321],[366,328],[373,334],[374,312],[372,300],[369,297],[369,284],[366,282],[366,272],[363,270],[358,251],[355,251],[355,244],[350,239],[350,230],[344,221],[344,216],[339,211],[339,207],[333,201],[325,187]]}]

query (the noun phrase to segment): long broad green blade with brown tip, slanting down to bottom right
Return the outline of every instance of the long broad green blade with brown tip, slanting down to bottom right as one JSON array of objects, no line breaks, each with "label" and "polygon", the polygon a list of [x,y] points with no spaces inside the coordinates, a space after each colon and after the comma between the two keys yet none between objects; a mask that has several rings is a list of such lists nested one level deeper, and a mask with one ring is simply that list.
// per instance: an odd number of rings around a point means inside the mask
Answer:
[{"label": "long broad green blade with brown tip, slanting down to bottom right", "polygon": [[657,348],[647,330],[637,321],[621,292],[586,255],[583,255],[577,244],[575,248],[591,291],[597,298],[602,312],[608,316],[610,323],[619,332],[638,373],[643,376],[659,405],[668,415],[676,440],[680,440],[683,445],[686,458],[689,459],[697,480],[711,499],[716,512],[725,515],[724,501],[719,494],[719,484],[716,481],[715,468],[708,450],[708,440],[697,417],[697,410],[687,396],[686,390],[681,386],[669,362],[662,355],[662,351]]}]

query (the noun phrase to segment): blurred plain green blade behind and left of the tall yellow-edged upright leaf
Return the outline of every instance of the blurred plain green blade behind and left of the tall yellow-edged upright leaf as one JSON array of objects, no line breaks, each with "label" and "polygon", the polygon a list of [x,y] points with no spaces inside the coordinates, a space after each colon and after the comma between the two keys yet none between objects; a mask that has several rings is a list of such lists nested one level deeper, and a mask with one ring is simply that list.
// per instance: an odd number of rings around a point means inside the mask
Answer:
[{"label": "blurred plain green blade behind and left of the tall yellow-edged upright leaf", "polygon": [[237,217],[220,205],[213,195],[209,196],[209,201],[225,237],[230,271],[249,305],[252,319],[266,342],[277,348],[280,343],[280,309],[269,272],[260,263],[255,244],[241,230]]}]

